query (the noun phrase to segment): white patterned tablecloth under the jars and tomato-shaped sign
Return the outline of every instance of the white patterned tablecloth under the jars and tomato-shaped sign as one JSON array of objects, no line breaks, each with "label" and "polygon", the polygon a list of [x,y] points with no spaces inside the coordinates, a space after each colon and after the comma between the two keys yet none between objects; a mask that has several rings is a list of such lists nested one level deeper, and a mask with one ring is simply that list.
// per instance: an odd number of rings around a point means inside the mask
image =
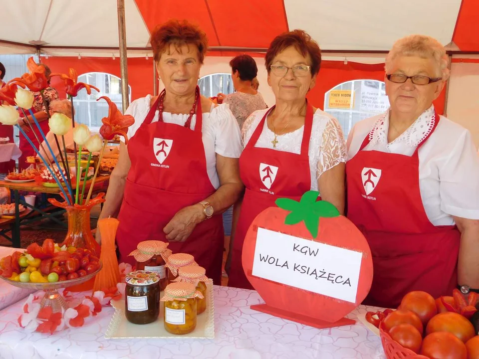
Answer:
[{"label": "white patterned tablecloth under the jars and tomato-shaped sign", "polygon": [[[385,358],[379,337],[360,322],[319,330],[249,309],[250,305],[262,302],[255,291],[215,286],[214,292],[214,340],[181,337],[174,340],[107,340],[104,333],[114,312],[111,307],[104,307],[81,328],[66,329],[51,336],[27,333],[17,324],[22,300],[0,311],[0,358]],[[361,306],[349,317],[354,319],[359,312],[367,310]]]}]

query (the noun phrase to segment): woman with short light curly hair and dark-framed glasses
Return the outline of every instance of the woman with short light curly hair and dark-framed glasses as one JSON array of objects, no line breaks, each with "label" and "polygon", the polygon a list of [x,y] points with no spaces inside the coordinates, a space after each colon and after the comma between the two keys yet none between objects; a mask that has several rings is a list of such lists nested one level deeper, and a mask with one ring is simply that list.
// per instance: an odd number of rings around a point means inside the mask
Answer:
[{"label": "woman with short light curly hair and dark-framed glasses", "polygon": [[385,68],[391,107],[348,137],[347,215],[374,263],[365,303],[395,308],[409,291],[438,298],[458,283],[477,290],[478,156],[469,131],[432,105],[449,77],[446,50],[431,37],[407,36]]}]

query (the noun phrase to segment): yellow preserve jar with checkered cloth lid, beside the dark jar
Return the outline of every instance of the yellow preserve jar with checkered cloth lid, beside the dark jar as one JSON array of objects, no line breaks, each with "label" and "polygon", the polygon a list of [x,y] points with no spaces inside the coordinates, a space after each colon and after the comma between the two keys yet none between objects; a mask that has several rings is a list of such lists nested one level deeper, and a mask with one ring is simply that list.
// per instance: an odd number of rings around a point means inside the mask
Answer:
[{"label": "yellow preserve jar with checkered cloth lid, beside the dark jar", "polygon": [[195,330],[197,321],[196,298],[203,294],[196,290],[194,284],[173,282],[168,284],[165,295],[163,322],[165,330],[171,334],[188,334]]}]

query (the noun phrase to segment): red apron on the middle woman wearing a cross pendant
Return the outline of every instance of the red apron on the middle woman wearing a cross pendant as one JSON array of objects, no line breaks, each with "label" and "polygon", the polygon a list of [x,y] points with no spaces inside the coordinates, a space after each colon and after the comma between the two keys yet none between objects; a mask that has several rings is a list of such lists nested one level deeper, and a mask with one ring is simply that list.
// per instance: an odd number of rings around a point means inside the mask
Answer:
[{"label": "red apron on the middle woman wearing a cross pendant", "polygon": [[[243,242],[253,219],[268,207],[276,206],[279,197],[299,200],[311,190],[309,140],[313,124],[313,108],[306,107],[304,133],[300,154],[254,147],[263,130],[264,121],[274,106],[266,112],[254,130],[240,156],[240,176],[246,190],[241,204],[233,248],[228,286],[253,289],[241,264]],[[318,198],[319,199],[319,198]]]}]

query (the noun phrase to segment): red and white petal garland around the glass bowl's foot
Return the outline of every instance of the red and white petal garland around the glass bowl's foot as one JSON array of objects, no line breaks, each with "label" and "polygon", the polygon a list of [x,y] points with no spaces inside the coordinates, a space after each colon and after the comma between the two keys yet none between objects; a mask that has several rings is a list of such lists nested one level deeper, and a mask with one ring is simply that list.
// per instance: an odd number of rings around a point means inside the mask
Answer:
[{"label": "red and white petal garland around the glass bowl's foot", "polygon": [[[63,291],[66,298],[71,298]],[[66,311],[53,313],[51,307],[41,308],[38,296],[30,294],[23,305],[23,313],[18,317],[18,325],[27,332],[53,334],[67,328],[82,327],[88,318],[95,317],[104,306],[110,305],[112,299],[121,299],[125,293],[125,283],[116,287],[96,291],[85,296],[81,303]]]}]

